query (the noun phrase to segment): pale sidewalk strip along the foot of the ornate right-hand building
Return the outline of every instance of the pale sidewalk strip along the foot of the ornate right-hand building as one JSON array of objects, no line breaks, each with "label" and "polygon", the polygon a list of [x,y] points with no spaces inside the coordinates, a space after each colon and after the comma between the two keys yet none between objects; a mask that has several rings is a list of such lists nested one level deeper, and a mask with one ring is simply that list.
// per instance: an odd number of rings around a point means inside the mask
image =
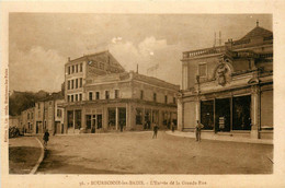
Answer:
[{"label": "pale sidewalk strip along the foot of the ornate right-hand building", "polygon": [[[175,137],[184,137],[184,138],[193,138],[195,139],[195,132],[182,132],[175,130],[172,131],[166,131],[170,136]],[[261,139],[250,139],[250,138],[243,138],[243,137],[230,137],[230,136],[219,136],[215,133],[208,133],[208,132],[202,132],[201,134],[202,140],[217,140],[217,141],[228,141],[228,142],[243,142],[243,143],[261,143],[261,144],[273,144],[273,140],[261,140]]]}]

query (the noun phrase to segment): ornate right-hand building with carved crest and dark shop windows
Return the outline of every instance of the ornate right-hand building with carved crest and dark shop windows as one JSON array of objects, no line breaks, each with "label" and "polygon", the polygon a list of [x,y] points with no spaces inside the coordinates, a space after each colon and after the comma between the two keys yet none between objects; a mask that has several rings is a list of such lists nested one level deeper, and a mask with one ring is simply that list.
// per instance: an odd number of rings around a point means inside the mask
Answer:
[{"label": "ornate right-hand building with carved crest and dark shop windows", "polygon": [[256,26],[238,40],[183,52],[179,129],[273,137],[273,33]]}]

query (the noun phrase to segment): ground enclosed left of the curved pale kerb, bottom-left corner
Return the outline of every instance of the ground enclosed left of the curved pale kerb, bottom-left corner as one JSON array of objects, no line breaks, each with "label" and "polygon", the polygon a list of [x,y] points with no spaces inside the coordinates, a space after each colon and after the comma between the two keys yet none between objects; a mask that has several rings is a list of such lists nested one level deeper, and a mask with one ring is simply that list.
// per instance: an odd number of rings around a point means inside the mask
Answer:
[{"label": "ground enclosed left of the curved pale kerb, bottom-left corner", "polygon": [[34,137],[9,139],[9,173],[29,174],[41,155],[41,145]]}]

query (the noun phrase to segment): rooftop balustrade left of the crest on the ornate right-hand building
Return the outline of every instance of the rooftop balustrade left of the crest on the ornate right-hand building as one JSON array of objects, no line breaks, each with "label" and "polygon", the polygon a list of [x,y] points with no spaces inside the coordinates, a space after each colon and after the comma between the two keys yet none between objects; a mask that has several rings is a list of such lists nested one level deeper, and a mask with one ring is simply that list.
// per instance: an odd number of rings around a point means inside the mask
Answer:
[{"label": "rooftop balustrade left of the crest on the ornate right-hand building", "polygon": [[196,56],[205,56],[205,55],[215,55],[220,54],[225,51],[225,46],[218,46],[218,47],[212,47],[212,48],[204,48],[204,49],[197,49],[193,51],[185,51],[183,52],[183,59],[185,58],[192,58]]}]

